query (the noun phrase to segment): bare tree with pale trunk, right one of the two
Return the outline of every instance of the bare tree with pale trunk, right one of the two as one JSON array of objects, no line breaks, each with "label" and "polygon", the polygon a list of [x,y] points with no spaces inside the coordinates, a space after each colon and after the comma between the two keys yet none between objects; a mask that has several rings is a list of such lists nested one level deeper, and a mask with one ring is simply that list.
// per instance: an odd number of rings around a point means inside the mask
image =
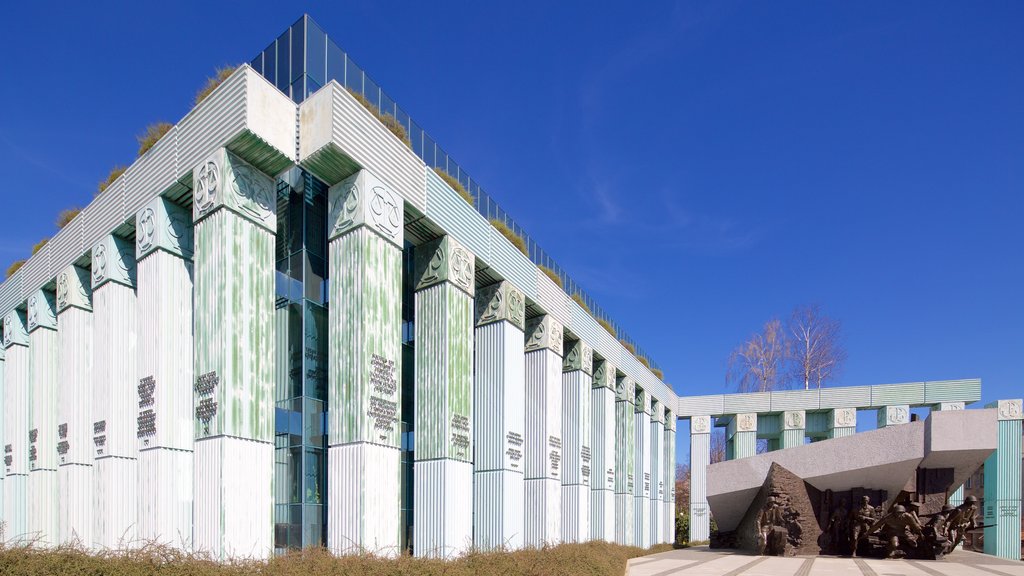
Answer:
[{"label": "bare tree with pale trunk, right one of the two", "polygon": [[841,324],[821,312],[818,304],[799,306],[786,323],[791,345],[792,379],[811,384],[831,380],[843,367],[846,351],[840,342]]}]

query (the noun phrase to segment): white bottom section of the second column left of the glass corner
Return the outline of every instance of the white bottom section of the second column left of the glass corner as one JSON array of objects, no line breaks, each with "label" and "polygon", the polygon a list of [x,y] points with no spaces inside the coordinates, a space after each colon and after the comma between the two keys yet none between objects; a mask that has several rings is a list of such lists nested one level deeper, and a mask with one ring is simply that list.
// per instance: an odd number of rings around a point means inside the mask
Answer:
[{"label": "white bottom section of the second column left of the glass corner", "polygon": [[139,452],[139,540],[191,549],[193,474],[191,450],[151,448]]}]

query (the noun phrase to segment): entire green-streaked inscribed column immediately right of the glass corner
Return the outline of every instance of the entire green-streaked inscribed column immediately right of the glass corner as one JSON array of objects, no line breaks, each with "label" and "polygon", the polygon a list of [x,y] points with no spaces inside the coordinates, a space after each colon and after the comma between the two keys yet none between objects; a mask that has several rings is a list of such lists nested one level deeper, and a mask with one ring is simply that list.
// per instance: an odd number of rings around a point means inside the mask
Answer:
[{"label": "entire green-streaked inscribed column immediately right of the glass corner", "polygon": [[331,187],[328,547],[397,556],[404,203],[367,170]]}]

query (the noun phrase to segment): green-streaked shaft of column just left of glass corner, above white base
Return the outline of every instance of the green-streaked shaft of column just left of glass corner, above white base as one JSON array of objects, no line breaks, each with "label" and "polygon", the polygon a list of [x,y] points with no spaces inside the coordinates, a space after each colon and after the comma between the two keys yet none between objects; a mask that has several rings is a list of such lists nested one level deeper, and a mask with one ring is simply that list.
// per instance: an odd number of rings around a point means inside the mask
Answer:
[{"label": "green-streaked shaft of column just left of glass corner, above white base", "polygon": [[[219,209],[196,224],[196,438],[273,442],[274,237]],[[245,349],[243,358],[237,351]],[[213,404],[215,403],[215,404]]]}]

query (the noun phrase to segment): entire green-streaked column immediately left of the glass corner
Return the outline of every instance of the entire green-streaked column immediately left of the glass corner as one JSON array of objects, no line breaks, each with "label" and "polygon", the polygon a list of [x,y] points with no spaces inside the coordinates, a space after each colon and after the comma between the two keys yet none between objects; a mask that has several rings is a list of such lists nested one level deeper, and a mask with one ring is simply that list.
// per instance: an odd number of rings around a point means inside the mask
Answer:
[{"label": "entire green-streaked column immediately left of the glass corner", "polygon": [[273,545],[274,180],[220,149],[193,186],[194,546],[260,559]]}]

